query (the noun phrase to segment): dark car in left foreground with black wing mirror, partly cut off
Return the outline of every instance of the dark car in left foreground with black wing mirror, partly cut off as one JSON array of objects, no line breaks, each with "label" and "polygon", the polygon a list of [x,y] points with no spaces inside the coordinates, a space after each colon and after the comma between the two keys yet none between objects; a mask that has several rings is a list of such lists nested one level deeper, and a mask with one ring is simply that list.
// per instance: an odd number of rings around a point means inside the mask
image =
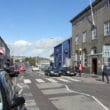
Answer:
[{"label": "dark car in left foreground with black wing mirror, partly cut off", "polygon": [[0,110],[26,110],[24,97],[19,97],[12,77],[0,70]]}]

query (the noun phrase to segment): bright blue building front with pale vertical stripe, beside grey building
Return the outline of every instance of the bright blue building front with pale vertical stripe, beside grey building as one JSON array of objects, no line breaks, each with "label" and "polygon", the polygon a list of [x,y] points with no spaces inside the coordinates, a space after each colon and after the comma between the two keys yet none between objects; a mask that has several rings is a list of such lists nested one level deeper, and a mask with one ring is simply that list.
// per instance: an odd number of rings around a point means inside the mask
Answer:
[{"label": "bright blue building front with pale vertical stripe, beside grey building", "polygon": [[61,44],[54,47],[54,64],[55,67],[66,66],[71,57],[71,39],[67,39]]}]

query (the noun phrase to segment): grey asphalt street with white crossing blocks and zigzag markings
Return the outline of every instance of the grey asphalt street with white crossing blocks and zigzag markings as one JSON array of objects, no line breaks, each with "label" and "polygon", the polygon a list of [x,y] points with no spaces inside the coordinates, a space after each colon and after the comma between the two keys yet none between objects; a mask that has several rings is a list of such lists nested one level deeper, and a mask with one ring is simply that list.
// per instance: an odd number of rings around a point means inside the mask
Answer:
[{"label": "grey asphalt street with white crossing blocks and zigzag markings", "polygon": [[17,78],[28,110],[109,110],[110,84],[81,78],[48,77],[28,70]]}]

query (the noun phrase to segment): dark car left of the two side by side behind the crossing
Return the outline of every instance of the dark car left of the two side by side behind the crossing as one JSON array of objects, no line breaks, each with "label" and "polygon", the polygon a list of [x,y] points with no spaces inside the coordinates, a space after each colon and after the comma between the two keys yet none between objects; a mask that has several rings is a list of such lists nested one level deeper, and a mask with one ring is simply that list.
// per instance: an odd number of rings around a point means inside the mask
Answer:
[{"label": "dark car left of the two side by side behind the crossing", "polygon": [[61,76],[61,72],[58,68],[55,67],[49,67],[47,70],[45,70],[45,75],[48,76]]}]

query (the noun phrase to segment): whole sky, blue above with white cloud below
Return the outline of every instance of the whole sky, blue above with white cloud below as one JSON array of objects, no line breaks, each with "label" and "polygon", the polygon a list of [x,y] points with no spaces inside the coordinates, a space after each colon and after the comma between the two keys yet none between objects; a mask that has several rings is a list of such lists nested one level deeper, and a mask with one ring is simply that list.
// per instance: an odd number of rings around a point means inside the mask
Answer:
[{"label": "whole sky, blue above with white cloud below", "polygon": [[[93,0],[91,0],[93,1]],[[14,56],[49,57],[89,0],[0,0],[0,36]]]}]

